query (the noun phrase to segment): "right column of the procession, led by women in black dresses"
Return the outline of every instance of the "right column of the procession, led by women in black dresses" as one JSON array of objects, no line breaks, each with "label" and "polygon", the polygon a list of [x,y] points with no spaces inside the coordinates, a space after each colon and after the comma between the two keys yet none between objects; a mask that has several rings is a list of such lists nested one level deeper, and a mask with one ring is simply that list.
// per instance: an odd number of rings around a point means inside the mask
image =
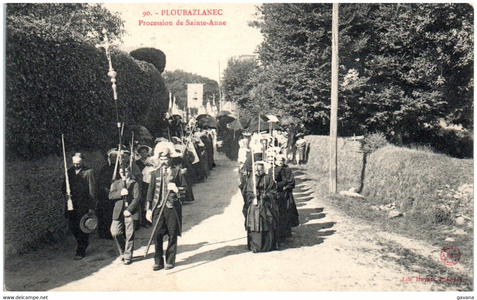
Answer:
[{"label": "right column of the procession, led by women in black dresses", "polygon": [[240,164],[247,245],[254,253],[277,250],[291,238],[291,228],[299,225],[292,193],[295,179],[287,164],[302,163],[306,148],[301,124],[278,126],[261,119],[262,128],[257,121],[249,120],[245,129],[223,132],[224,152]]}]

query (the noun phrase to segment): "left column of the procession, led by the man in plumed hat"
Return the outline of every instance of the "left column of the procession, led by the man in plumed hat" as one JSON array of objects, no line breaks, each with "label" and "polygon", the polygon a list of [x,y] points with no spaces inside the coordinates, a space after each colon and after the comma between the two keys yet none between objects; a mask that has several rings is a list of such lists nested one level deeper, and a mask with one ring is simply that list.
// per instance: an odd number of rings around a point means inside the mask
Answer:
[{"label": "left column of the procession, led by the man in plumed hat", "polygon": [[[142,138],[129,147],[110,148],[97,175],[84,164],[83,154],[72,155],[62,192],[65,217],[77,242],[75,260],[84,258],[89,234],[97,228],[98,237],[114,240],[121,260],[130,264],[135,231],[153,227],[153,269],[174,267],[181,207],[195,200],[192,185],[205,181],[215,167],[216,129],[163,113],[151,131],[154,142]],[[165,235],[169,242],[164,261]]]}]

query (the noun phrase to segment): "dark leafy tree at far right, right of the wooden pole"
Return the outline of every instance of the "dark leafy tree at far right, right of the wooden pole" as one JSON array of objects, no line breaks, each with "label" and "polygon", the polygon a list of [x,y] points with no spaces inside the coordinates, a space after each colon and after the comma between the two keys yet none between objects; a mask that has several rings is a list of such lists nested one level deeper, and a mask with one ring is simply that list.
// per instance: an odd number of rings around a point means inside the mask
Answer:
[{"label": "dark leafy tree at far right, right of the wooden pole", "polygon": [[470,5],[381,4],[370,17],[376,34],[365,48],[369,81],[360,99],[368,126],[393,130],[400,144],[406,132],[472,106]]}]

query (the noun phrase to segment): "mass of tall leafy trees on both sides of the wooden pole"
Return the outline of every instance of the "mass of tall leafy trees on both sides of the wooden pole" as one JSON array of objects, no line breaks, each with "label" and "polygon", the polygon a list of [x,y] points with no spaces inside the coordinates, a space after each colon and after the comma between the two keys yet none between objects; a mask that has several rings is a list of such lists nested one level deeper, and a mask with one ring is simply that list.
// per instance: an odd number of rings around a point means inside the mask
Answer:
[{"label": "mass of tall leafy trees on both sides of the wooden pole", "polygon": [[[249,100],[295,114],[315,132],[329,122],[332,5],[265,3],[262,64]],[[340,4],[342,134],[423,130],[448,117],[471,128],[473,8],[465,3]],[[325,126],[323,126],[325,125]],[[324,130],[323,129],[323,130]]]}]

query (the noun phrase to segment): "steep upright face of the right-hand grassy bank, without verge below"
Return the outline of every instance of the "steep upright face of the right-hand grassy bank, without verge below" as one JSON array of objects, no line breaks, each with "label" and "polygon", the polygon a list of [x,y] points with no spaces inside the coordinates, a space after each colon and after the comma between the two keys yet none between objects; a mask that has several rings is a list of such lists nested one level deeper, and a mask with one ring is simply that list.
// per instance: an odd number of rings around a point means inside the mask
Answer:
[{"label": "steep upright face of the right-hand grassy bank, without verge below", "polygon": [[[306,139],[310,143],[306,168],[327,179],[329,137],[309,135]],[[360,151],[359,142],[338,139],[338,191],[361,190],[368,203],[363,210],[372,204],[407,203],[408,216],[427,225],[452,224],[458,214],[474,215],[473,159],[393,145],[373,151],[366,159]],[[321,182],[325,185],[327,180]],[[318,188],[328,190],[327,186]]]}]

